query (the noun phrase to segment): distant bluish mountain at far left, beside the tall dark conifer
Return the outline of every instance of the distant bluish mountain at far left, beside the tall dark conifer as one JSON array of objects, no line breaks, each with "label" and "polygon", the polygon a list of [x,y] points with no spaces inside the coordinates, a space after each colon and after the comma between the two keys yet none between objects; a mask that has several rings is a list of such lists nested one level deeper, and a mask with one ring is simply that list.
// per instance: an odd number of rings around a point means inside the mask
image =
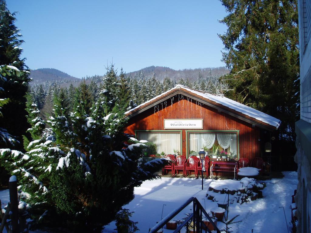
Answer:
[{"label": "distant bluish mountain at far left, beside the tall dark conifer", "polygon": [[52,68],[30,70],[30,78],[32,78],[32,82],[30,83],[30,85],[40,84],[46,81],[71,80],[72,82],[77,82],[81,80]]}]

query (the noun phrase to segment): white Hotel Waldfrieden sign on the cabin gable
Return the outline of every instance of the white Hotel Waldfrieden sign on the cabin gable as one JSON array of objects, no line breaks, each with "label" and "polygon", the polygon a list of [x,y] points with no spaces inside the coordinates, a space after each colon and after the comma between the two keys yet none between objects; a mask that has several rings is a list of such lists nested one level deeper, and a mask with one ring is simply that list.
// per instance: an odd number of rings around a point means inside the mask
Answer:
[{"label": "white Hotel Waldfrieden sign on the cabin gable", "polygon": [[164,129],[203,129],[203,119],[164,119]]}]

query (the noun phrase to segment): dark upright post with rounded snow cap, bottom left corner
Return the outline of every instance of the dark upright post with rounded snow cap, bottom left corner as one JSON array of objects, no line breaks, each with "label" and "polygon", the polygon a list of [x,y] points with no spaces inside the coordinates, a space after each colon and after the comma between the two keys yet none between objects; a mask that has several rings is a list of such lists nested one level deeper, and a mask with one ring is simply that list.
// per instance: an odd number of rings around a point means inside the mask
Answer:
[{"label": "dark upright post with rounded snow cap, bottom left corner", "polygon": [[12,211],[12,233],[18,233],[18,198],[16,176],[11,176],[9,180],[10,207]]}]

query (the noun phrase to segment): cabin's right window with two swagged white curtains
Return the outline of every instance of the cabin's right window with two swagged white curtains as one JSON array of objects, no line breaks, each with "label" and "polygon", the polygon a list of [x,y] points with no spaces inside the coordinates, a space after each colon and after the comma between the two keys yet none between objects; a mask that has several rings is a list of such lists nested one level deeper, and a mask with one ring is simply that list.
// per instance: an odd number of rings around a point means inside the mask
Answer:
[{"label": "cabin's right window with two swagged white curtains", "polygon": [[[202,148],[211,149],[213,145],[218,145],[221,150],[238,155],[237,132],[188,132],[188,153],[198,152]],[[221,151],[220,150],[220,151]]]}]

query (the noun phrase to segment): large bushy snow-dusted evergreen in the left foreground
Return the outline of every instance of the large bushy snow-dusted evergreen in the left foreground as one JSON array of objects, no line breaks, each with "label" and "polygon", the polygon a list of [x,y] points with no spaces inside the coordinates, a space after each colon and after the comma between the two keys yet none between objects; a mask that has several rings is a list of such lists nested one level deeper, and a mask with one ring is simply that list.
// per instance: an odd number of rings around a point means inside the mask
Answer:
[{"label": "large bushy snow-dusted evergreen in the left foreground", "polygon": [[138,165],[145,146],[126,143],[130,140],[123,133],[123,114],[107,114],[105,96],[95,103],[91,117],[78,106],[76,112],[68,112],[65,96],[60,89],[48,121],[51,130],[32,131],[41,138],[29,143],[26,154],[0,149],[0,157],[29,194],[25,199],[33,225],[101,231],[134,198],[134,187],[157,178],[154,172],[166,161]]}]

